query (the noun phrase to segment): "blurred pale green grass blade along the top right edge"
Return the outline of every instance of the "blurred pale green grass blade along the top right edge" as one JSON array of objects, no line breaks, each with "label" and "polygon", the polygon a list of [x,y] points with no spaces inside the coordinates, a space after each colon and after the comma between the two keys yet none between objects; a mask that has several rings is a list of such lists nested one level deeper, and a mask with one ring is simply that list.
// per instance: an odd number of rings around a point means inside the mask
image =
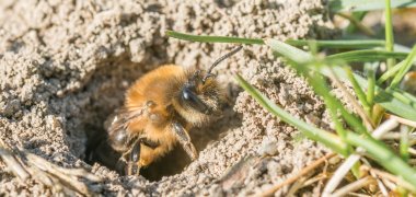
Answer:
[{"label": "blurred pale green grass blade along the top right edge", "polygon": [[[415,0],[394,0],[392,8],[413,8],[416,7]],[[384,2],[382,0],[331,0],[331,12],[357,12],[370,10],[383,10]]]}]

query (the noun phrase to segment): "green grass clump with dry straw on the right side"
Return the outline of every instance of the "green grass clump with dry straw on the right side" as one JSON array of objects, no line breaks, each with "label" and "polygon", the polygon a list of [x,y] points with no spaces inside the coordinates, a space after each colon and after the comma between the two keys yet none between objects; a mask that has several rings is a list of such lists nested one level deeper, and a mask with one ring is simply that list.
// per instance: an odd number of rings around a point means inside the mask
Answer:
[{"label": "green grass clump with dry straw on the right side", "polygon": [[[199,36],[167,31],[166,35],[180,39],[206,43],[238,43],[249,45],[266,45],[274,54],[287,60],[287,65],[297,71],[322,97],[330,112],[335,129],[324,130],[298,119],[271,102],[257,89],[251,85],[243,77],[236,73],[235,79],[263,107],[278,116],[284,121],[297,127],[304,136],[317,141],[345,161],[327,182],[323,195],[344,194],[345,190],[334,192],[348,171],[356,177],[350,185],[368,184],[368,178],[375,179],[379,190],[386,195],[389,190],[397,194],[416,194],[416,169],[409,150],[414,150],[415,140],[411,139],[416,127],[416,97],[401,89],[406,73],[416,61],[416,45],[412,50],[394,51],[391,8],[415,7],[411,0],[395,0],[384,2],[380,0],[332,0],[330,11],[334,13],[345,11],[360,11],[351,14],[355,20],[362,19],[369,10],[385,9],[385,40],[354,39],[354,40],[296,40],[280,42],[273,38],[241,38],[227,36]],[[357,21],[356,21],[357,22]],[[361,26],[362,27],[362,26]],[[299,49],[299,46],[309,48],[325,48],[342,50],[321,57],[315,51]],[[347,51],[346,51],[347,50]],[[396,63],[398,61],[398,63]],[[355,67],[351,66],[355,63]],[[366,77],[355,73],[358,66],[362,67]],[[380,65],[386,65],[380,77]],[[350,114],[345,106],[331,93],[330,79],[347,95],[346,100],[353,104],[355,114]],[[345,84],[350,84],[356,96],[346,91]],[[357,99],[356,99],[357,97]],[[346,123],[346,126],[342,123]],[[400,128],[400,138],[389,139],[393,129]],[[391,136],[391,135],[390,135]],[[383,140],[384,139],[384,140]],[[389,139],[388,143],[385,139]],[[393,143],[397,144],[391,146]],[[398,152],[398,153],[396,153]],[[377,164],[375,164],[377,163]],[[379,167],[375,167],[379,166]],[[367,169],[366,173],[359,170]],[[386,171],[386,172],[384,172]],[[393,183],[388,187],[384,183]],[[349,185],[347,185],[349,186]],[[347,186],[343,189],[347,189]],[[267,194],[273,194],[271,187]]]}]

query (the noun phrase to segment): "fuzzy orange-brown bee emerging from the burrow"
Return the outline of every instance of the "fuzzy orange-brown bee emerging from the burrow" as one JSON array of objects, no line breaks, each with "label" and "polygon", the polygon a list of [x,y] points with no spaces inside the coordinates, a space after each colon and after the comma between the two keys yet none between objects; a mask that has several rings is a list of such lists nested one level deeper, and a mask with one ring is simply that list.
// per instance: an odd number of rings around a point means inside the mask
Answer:
[{"label": "fuzzy orange-brown bee emerging from the burrow", "polygon": [[192,160],[198,153],[188,131],[221,114],[224,90],[212,69],[242,46],[222,56],[208,70],[184,69],[175,65],[157,68],[142,76],[127,91],[125,104],[106,121],[107,140],[101,144],[97,160],[114,159],[116,170],[138,175],[178,142]]}]

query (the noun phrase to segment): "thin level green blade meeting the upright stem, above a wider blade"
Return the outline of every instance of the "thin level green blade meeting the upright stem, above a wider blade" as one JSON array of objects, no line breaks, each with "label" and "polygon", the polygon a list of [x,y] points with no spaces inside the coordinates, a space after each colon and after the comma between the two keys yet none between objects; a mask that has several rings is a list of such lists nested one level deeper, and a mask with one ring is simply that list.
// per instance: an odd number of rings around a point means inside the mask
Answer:
[{"label": "thin level green blade meeting the upright stem, above a wider blade", "polygon": [[[308,46],[311,39],[288,39],[285,43],[292,46]],[[320,48],[348,48],[348,49],[362,49],[384,47],[385,42],[382,39],[344,39],[344,40],[315,40]]]}]

